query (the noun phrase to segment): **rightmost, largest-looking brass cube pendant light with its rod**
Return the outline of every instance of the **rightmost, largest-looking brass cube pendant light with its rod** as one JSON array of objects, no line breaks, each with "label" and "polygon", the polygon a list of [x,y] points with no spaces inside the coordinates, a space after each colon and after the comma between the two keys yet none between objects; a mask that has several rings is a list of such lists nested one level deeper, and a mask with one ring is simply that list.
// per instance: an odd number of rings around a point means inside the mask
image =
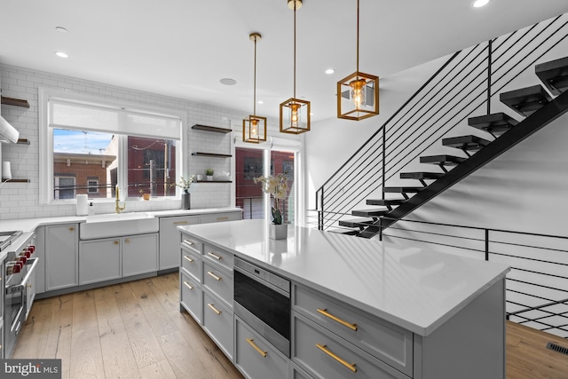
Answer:
[{"label": "rightmost, largest-looking brass cube pendant light with its rod", "polygon": [[359,72],[359,0],[357,0],[357,71],[337,82],[337,118],[363,120],[379,114],[379,77]]}]

